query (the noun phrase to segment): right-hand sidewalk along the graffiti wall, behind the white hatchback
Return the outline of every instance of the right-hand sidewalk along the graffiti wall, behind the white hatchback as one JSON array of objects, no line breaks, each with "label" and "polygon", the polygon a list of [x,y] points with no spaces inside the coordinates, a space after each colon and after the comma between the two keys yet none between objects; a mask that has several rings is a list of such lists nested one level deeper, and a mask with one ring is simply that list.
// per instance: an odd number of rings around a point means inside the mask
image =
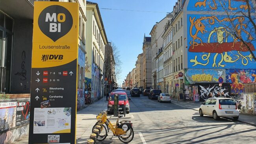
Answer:
[{"label": "right-hand sidewalk along the graffiti wall, behind the white hatchback", "polygon": [[[173,100],[172,101],[173,104],[175,105],[179,105],[181,107],[186,107],[188,109],[193,109],[195,111],[199,111],[199,107],[202,104],[202,102],[193,102],[193,101],[177,101],[177,100]],[[245,124],[250,124],[253,126],[256,126],[256,116],[252,116],[252,115],[246,115],[246,114],[239,114],[239,119],[237,120],[238,122],[242,122]]]}]

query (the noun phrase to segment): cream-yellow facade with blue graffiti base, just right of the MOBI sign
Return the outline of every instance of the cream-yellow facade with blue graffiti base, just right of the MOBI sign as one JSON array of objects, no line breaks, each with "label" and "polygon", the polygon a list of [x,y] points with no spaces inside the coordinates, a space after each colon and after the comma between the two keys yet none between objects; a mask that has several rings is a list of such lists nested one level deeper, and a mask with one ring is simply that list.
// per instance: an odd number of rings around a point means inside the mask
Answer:
[{"label": "cream-yellow facade with blue graffiti base, just right of the MOBI sign", "polygon": [[85,85],[91,90],[94,100],[99,100],[103,94],[103,70],[105,45],[108,43],[98,4],[86,2],[86,52]]}]

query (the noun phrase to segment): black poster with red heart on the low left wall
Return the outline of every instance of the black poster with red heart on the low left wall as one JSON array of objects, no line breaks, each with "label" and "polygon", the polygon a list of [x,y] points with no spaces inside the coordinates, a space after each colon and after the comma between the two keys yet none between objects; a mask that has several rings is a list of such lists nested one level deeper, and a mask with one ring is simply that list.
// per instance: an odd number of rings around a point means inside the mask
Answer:
[{"label": "black poster with red heart on the low left wall", "polygon": [[17,102],[16,126],[26,124],[30,118],[30,101]]}]

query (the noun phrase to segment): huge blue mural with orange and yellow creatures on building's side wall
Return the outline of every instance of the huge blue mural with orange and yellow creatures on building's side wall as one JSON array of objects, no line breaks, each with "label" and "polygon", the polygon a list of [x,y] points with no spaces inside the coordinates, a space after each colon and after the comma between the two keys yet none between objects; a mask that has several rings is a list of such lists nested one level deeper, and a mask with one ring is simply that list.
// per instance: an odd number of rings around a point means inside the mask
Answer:
[{"label": "huge blue mural with orange and yellow creatures on building's side wall", "polygon": [[[209,4],[210,2],[210,4]],[[212,5],[213,4],[213,5]],[[231,4],[227,9],[235,10],[246,9],[243,0],[226,0]],[[188,11],[222,11],[216,0],[190,0]],[[206,12],[204,12],[206,13]],[[187,15],[187,43],[188,43],[188,68],[256,68],[256,63],[247,47],[230,33],[228,27],[232,24],[236,31],[240,31],[241,37],[248,37],[248,45],[254,54],[256,42],[249,34],[252,25],[248,18],[235,16],[231,20],[225,15]],[[253,35],[255,37],[255,35]]]}]

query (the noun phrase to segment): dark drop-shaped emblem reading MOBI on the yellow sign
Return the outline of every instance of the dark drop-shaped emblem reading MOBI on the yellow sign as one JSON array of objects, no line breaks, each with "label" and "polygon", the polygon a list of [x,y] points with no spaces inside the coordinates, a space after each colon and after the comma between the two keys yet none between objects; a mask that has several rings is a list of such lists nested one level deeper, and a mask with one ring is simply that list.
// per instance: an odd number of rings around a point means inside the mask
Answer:
[{"label": "dark drop-shaped emblem reading MOBI on the yellow sign", "polygon": [[38,25],[40,30],[55,42],[70,31],[73,18],[63,6],[48,6],[40,13]]}]

